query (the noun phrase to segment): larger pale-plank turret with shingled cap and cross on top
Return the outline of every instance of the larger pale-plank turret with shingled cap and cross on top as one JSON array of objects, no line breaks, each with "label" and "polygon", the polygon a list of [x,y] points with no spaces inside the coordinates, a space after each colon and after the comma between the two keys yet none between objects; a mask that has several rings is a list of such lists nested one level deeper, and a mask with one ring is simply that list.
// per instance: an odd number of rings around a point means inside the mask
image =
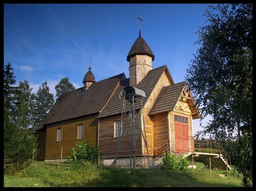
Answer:
[{"label": "larger pale-plank turret with shingled cap and cross on top", "polygon": [[139,19],[139,37],[134,42],[130,52],[127,55],[127,61],[130,62],[129,77],[130,86],[136,86],[143,78],[152,70],[152,61],[155,55],[149,48],[146,41],[141,37],[140,21]]}]

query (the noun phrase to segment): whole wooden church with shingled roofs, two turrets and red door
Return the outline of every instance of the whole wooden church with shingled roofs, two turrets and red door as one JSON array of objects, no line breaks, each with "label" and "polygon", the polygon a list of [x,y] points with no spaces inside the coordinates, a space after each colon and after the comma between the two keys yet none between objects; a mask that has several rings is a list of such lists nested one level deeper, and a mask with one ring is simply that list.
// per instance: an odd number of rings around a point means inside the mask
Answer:
[{"label": "whole wooden church with shingled roofs, two turrets and red door", "polygon": [[[117,159],[117,166],[125,166],[131,156],[141,159],[136,160],[139,165],[146,165],[145,161],[167,149],[189,152],[193,147],[192,120],[201,116],[186,81],[174,83],[167,65],[154,68],[154,59],[139,30],[127,55],[129,78],[122,73],[96,81],[89,67],[83,87],[59,96],[37,128],[36,160],[68,159],[71,148],[83,140],[99,146],[104,165]],[[127,89],[134,90],[133,102],[120,98]],[[132,115],[129,111],[135,111],[135,123],[127,120]]]}]

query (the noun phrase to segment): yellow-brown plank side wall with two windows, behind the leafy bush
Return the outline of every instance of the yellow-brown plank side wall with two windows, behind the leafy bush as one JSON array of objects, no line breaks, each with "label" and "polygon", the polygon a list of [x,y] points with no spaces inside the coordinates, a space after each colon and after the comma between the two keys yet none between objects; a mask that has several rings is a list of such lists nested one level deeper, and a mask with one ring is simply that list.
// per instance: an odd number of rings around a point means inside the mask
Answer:
[{"label": "yellow-brown plank side wall with two windows, behind the leafy bush", "polygon": [[[77,125],[83,124],[83,139],[77,139]],[[57,129],[62,128],[61,141],[57,141]],[[61,144],[62,158],[71,155],[72,147],[76,142],[85,140],[87,143],[97,145],[98,120],[96,115],[80,117],[47,126],[47,141],[45,159],[60,159]]]}]

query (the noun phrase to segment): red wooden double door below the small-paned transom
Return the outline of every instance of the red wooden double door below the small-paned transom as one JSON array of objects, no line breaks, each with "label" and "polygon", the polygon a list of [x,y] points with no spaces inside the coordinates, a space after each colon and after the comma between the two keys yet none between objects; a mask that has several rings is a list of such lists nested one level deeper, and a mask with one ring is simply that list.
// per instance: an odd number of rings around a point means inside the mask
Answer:
[{"label": "red wooden double door below the small-paned transom", "polygon": [[174,122],[174,136],[176,152],[181,153],[189,150],[189,125]]}]

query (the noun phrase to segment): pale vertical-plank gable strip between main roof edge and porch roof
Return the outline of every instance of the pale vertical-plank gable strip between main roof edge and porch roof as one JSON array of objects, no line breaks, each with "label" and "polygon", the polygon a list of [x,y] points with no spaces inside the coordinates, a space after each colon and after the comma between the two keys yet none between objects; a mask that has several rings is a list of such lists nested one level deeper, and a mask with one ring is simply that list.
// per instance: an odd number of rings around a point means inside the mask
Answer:
[{"label": "pale vertical-plank gable strip between main roof edge and porch roof", "polygon": [[161,75],[160,79],[158,80],[155,88],[153,89],[151,95],[149,96],[149,98],[148,98],[148,100],[147,100],[147,102],[144,106],[144,109],[151,110],[151,108],[153,107],[153,105],[154,105],[159,93],[161,92],[162,88],[164,86],[171,85],[170,81],[168,80],[166,72],[167,71],[164,71],[163,74]]}]

